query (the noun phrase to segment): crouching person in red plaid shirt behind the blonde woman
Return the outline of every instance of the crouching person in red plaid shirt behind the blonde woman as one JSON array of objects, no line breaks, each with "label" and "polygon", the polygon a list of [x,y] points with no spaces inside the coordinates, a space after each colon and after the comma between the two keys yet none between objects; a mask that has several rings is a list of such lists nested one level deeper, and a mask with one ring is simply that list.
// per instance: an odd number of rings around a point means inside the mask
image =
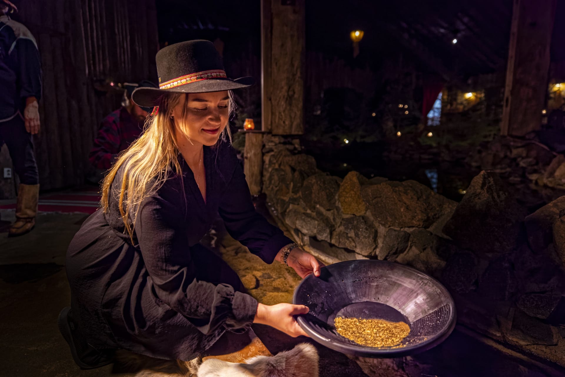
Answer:
[{"label": "crouching person in red plaid shirt behind the blonde woman", "polygon": [[150,107],[140,107],[132,101],[132,93],[136,88],[157,88],[149,80],[140,81],[138,84],[124,84],[124,101],[122,106],[104,118],[98,128],[94,139],[94,146],[90,150],[88,161],[92,167],[94,177],[89,179],[98,183],[103,175],[110,169],[112,163],[121,151],[128,149],[143,131],[145,118]]}]

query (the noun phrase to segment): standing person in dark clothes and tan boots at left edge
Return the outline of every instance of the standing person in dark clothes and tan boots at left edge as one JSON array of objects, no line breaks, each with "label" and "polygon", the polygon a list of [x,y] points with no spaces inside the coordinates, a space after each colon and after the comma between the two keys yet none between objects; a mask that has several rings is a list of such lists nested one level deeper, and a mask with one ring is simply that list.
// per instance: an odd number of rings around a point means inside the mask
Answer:
[{"label": "standing person in dark clothes and tan boots at left edge", "polygon": [[8,146],[20,179],[16,222],[8,236],[31,231],[37,215],[39,175],[32,135],[40,131],[41,58],[32,33],[12,20],[18,8],[0,0],[0,146]]}]

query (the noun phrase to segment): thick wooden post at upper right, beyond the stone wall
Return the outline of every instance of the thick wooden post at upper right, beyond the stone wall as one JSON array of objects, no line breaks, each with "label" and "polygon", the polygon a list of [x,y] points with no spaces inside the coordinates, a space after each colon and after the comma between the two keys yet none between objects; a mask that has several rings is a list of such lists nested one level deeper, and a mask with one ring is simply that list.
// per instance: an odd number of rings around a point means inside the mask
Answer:
[{"label": "thick wooden post at upper right, beyond the stone wall", "polygon": [[514,0],[501,135],[540,129],[557,0]]}]

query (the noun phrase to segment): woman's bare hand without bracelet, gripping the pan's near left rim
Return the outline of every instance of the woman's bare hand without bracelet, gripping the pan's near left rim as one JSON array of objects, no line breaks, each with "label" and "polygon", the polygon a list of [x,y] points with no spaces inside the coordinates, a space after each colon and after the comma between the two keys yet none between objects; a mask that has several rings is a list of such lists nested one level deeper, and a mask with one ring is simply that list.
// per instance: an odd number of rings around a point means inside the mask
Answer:
[{"label": "woman's bare hand without bracelet, gripping the pan's near left rim", "polygon": [[293,315],[306,314],[309,310],[310,309],[305,305],[259,304],[253,323],[268,324],[292,337],[300,335],[308,336],[299,326],[298,322],[296,322]]}]

